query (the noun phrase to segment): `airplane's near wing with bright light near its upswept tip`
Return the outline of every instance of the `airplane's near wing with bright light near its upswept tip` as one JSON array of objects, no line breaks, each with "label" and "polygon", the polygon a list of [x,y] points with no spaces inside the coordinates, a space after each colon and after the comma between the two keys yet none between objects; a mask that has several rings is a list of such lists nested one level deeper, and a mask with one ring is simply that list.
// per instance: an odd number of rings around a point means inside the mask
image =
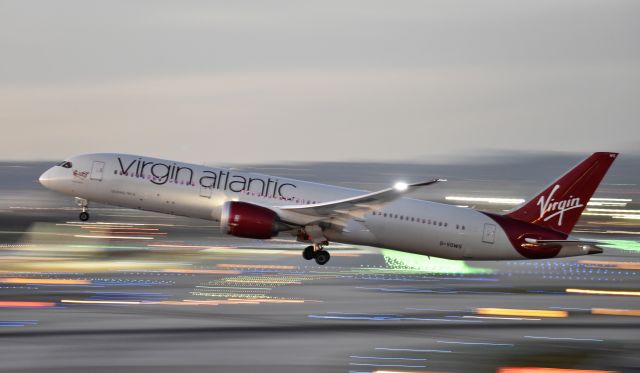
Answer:
[{"label": "airplane's near wing with bright light near its upswept tip", "polygon": [[295,212],[310,217],[315,217],[316,221],[326,220],[327,218],[350,217],[362,218],[367,212],[384,206],[385,204],[398,199],[407,193],[415,191],[418,188],[432,185],[443,179],[435,179],[422,181],[419,183],[404,184],[398,183],[392,188],[383,189],[378,192],[368,193],[361,196],[345,198],[337,201],[322,202],[312,205],[290,205],[279,206],[283,212]]}]

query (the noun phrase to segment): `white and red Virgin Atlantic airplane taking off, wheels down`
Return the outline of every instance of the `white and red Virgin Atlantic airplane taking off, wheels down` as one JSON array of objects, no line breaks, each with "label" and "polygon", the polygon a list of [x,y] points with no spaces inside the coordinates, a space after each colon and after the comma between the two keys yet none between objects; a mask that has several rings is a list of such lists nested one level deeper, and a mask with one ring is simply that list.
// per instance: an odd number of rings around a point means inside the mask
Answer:
[{"label": "white and red Virgin Atlantic airplane taking off, wheels down", "polygon": [[617,156],[593,153],[506,214],[409,198],[440,179],[368,192],[117,153],[71,157],[39,181],[75,197],[81,221],[92,201],[215,221],[237,237],[290,234],[319,265],[330,242],[458,260],[547,259],[603,252],[570,234]]}]

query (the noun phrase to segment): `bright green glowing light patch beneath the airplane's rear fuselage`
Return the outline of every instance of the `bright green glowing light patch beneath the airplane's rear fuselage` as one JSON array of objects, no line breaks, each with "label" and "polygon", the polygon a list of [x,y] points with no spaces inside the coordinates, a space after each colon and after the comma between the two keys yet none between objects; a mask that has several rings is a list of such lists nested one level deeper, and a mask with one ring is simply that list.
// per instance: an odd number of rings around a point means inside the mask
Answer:
[{"label": "bright green glowing light patch beneath the airplane's rear fuselage", "polygon": [[382,256],[387,266],[392,269],[413,270],[429,273],[457,273],[457,274],[487,274],[493,270],[489,268],[471,267],[462,260],[449,260],[426,257],[424,255],[404,253],[394,250],[382,250]]}]

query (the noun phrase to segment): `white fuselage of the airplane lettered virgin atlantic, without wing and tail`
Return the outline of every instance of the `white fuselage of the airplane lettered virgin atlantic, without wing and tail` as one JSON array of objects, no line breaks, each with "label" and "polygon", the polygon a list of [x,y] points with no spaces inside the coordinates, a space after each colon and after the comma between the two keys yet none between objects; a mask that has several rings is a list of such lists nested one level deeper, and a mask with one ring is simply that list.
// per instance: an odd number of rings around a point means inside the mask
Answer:
[{"label": "white fuselage of the airplane lettered virgin atlantic, without wing and tail", "polygon": [[[138,157],[87,154],[52,167],[41,177],[47,188],[88,201],[219,221],[226,201],[277,210],[362,195],[366,191],[224,168]],[[286,214],[284,215],[286,219]],[[367,245],[449,259],[525,259],[504,230],[479,211],[400,198],[344,229],[326,229],[333,242]],[[576,255],[561,252],[559,256]]]}]

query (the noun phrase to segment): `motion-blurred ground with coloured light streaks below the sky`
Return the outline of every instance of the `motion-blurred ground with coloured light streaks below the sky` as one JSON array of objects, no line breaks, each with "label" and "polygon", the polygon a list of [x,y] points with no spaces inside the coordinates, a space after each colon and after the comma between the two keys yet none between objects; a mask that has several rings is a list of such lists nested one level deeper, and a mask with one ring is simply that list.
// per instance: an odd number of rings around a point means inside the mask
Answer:
[{"label": "motion-blurred ground with coloured light streaks below the sky", "polygon": [[[418,197],[502,211],[513,204],[483,198],[526,198],[578,160],[243,168],[370,190],[444,177]],[[607,241],[603,255],[457,262],[332,245],[325,267],[288,237],[208,221],[94,206],[81,224],[71,198],[37,184],[50,163],[2,163],[0,370],[637,371],[639,163],[614,164],[576,228]]]}]

